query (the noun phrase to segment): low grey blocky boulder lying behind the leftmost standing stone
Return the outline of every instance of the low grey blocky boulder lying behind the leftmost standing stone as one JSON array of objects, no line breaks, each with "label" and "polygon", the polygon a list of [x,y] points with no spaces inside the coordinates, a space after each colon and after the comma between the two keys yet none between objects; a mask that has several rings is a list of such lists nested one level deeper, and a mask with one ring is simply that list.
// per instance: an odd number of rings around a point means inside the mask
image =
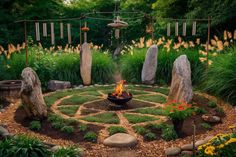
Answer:
[{"label": "low grey blocky boulder lying behind the leftmost standing stone", "polygon": [[71,87],[71,83],[69,81],[50,80],[48,82],[48,90],[50,91],[67,89],[70,87]]}]

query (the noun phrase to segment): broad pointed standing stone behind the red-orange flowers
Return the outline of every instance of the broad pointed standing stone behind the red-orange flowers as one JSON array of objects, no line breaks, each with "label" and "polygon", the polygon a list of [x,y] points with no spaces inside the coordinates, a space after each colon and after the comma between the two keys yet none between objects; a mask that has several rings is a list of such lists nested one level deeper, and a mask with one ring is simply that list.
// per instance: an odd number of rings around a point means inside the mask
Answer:
[{"label": "broad pointed standing stone behind the red-orange flowers", "polygon": [[179,56],[172,69],[171,88],[167,101],[190,102],[193,98],[191,68],[186,55]]}]

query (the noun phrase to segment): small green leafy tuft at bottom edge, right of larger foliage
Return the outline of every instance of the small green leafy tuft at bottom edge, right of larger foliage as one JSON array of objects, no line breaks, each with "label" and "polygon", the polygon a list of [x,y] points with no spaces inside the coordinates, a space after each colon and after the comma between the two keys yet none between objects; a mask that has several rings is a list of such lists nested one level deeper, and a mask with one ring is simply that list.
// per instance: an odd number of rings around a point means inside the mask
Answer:
[{"label": "small green leafy tuft at bottom edge, right of larger foliage", "polygon": [[74,146],[56,150],[52,157],[78,157],[78,149]]}]

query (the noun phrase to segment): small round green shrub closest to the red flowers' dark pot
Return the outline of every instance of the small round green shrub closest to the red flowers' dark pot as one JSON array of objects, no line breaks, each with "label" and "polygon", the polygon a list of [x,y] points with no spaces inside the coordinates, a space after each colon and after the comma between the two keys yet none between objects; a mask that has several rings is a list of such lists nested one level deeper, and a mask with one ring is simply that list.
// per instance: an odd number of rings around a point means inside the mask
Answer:
[{"label": "small round green shrub closest to the red flowers' dark pot", "polygon": [[163,125],[161,129],[161,137],[165,141],[175,140],[178,138],[177,133],[174,130],[174,127],[171,125]]}]

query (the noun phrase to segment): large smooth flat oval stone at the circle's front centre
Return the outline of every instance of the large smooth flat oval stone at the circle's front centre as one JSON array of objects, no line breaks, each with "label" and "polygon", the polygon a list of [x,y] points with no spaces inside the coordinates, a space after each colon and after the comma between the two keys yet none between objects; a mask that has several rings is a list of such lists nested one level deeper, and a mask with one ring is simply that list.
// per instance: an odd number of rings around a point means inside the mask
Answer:
[{"label": "large smooth flat oval stone at the circle's front centre", "polygon": [[103,144],[109,147],[133,147],[137,144],[137,139],[129,134],[117,133],[106,138]]}]

